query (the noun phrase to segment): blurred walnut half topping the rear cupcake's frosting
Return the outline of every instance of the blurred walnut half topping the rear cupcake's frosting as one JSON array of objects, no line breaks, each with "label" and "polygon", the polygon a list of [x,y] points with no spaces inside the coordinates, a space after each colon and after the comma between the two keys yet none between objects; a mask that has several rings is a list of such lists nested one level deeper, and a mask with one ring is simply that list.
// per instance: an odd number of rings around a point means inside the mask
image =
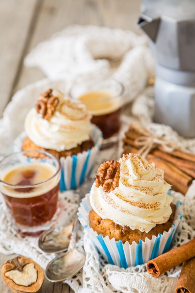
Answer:
[{"label": "blurred walnut half topping the rear cupcake's frosting", "polygon": [[49,89],[40,94],[35,108],[37,113],[42,115],[42,118],[49,119],[53,115],[58,103],[59,99],[53,95],[53,90]]}]

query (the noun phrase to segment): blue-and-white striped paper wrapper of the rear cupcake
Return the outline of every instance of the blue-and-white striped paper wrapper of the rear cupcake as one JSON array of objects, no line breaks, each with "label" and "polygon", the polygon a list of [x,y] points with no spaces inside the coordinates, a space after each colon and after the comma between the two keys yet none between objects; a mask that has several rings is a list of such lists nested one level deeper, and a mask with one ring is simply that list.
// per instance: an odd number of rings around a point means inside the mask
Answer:
[{"label": "blue-and-white striped paper wrapper of the rear cupcake", "polygon": [[[25,132],[18,135],[13,143],[13,151],[22,151],[22,143],[26,137]],[[94,142],[94,147],[83,151],[77,155],[68,156],[61,158],[61,179],[60,179],[60,190],[75,189],[77,186],[83,183],[84,179],[90,175],[97,153],[102,143],[101,130],[94,125],[91,138]]]}]

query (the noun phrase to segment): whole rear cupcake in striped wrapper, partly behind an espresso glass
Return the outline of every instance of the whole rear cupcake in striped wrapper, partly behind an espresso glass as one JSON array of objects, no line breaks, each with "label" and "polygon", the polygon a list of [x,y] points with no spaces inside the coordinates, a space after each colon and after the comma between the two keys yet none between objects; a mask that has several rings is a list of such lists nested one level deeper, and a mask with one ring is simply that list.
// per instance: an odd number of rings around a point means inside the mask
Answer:
[{"label": "whole rear cupcake in striped wrapper, partly behind an espresso glass", "polygon": [[16,139],[13,149],[51,152],[61,161],[61,190],[76,188],[89,175],[102,141],[91,118],[84,104],[49,89],[27,114],[25,133]]}]

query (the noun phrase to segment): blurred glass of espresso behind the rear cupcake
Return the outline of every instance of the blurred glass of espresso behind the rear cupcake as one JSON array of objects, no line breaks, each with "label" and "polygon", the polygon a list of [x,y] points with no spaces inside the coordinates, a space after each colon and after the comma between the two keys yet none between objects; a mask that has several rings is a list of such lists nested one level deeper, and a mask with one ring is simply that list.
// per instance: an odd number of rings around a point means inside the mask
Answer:
[{"label": "blurred glass of espresso behind the rear cupcake", "polygon": [[101,129],[104,144],[120,129],[123,92],[124,86],[115,79],[88,84],[75,83],[70,90],[71,98],[81,100],[92,114],[92,123]]}]

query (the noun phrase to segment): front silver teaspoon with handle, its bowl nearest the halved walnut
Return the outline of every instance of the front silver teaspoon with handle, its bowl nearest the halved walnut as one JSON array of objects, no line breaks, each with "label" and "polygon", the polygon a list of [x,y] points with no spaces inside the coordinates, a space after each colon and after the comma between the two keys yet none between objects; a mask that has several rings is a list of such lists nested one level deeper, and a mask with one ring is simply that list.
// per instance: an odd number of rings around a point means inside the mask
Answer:
[{"label": "front silver teaspoon with handle, its bowl nearest the halved walnut", "polygon": [[68,251],[57,256],[47,265],[45,276],[51,282],[62,282],[77,274],[82,269],[86,255],[76,248],[77,217],[73,224]]}]

